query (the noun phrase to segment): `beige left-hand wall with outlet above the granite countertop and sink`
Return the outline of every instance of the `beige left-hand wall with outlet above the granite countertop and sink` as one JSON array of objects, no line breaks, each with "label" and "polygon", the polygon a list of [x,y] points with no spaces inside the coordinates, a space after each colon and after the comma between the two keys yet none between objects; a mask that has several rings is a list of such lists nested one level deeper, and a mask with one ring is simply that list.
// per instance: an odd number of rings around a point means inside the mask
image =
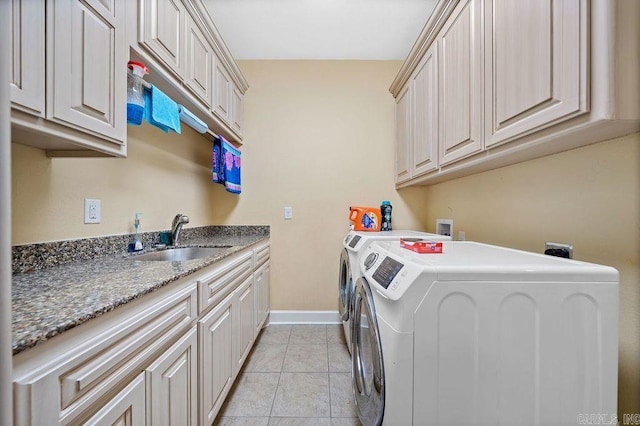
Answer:
[{"label": "beige left-hand wall with outlet above the granite countertop and sink", "polygon": [[[211,224],[217,199],[232,198],[211,183],[211,142],[183,126],[183,136],[129,127],[126,159],[47,158],[12,145],[13,244],[167,229],[173,216],[189,226]],[[84,199],[102,204],[100,224],[85,225]]]}]

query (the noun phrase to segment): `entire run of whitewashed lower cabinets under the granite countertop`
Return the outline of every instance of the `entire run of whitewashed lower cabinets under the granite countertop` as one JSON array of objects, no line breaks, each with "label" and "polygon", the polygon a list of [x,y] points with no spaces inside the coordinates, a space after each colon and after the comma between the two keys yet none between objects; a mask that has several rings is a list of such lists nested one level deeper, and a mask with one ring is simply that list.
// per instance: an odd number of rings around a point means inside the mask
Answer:
[{"label": "entire run of whitewashed lower cabinets under the granite countertop", "polygon": [[268,256],[233,254],[14,356],[14,424],[213,423],[259,331]]}]

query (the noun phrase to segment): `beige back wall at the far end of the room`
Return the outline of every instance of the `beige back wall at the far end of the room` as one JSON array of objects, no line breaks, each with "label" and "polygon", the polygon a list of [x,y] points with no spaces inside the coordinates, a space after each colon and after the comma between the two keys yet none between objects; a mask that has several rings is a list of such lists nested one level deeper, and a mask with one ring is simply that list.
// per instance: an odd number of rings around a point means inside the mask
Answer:
[{"label": "beige back wall at the far end of the room", "polygon": [[[243,191],[215,223],[271,225],[275,310],[336,310],[349,205],[388,199],[396,227],[421,228],[424,191],[393,184],[399,62],[240,61],[245,97]],[[283,208],[293,207],[284,220]]]}]

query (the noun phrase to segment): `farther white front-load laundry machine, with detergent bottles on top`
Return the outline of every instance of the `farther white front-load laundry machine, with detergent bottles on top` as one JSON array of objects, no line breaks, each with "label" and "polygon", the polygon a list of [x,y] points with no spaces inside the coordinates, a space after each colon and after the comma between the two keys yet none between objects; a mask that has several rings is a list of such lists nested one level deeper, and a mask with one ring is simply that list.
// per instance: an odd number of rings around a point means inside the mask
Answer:
[{"label": "farther white front-load laundry machine, with detergent bottles on top", "polygon": [[407,230],[384,232],[350,231],[343,240],[344,248],[340,253],[338,281],[338,313],[342,319],[344,337],[347,340],[349,350],[351,350],[351,299],[355,282],[361,276],[358,263],[359,254],[373,241],[399,241],[400,238],[422,238],[434,241],[451,240],[451,237],[444,235]]}]

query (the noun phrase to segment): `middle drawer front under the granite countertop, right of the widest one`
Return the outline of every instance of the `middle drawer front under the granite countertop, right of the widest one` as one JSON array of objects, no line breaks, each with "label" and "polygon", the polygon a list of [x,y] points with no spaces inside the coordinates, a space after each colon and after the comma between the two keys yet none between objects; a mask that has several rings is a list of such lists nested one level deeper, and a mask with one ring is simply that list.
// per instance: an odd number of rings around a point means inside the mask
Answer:
[{"label": "middle drawer front under the granite countertop, right of the widest one", "polygon": [[219,303],[251,274],[253,253],[232,258],[205,278],[198,280],[198,312]]}]

